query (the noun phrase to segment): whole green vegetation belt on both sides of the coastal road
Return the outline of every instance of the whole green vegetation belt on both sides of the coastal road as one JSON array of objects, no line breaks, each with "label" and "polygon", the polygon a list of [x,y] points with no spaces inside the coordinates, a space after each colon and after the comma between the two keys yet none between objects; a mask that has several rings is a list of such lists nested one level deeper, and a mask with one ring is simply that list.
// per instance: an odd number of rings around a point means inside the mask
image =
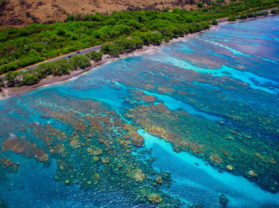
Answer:
[{"label": "whole green vegetation belt on both sides of the coastal road", "polygon": [[[217,1],[208,4],[209,7],[191,11],[147,10],[68,16],[64,23],[33,24],[24,29],[2,30],[0,74],[9,73],[5,81],[0,79],[0,87],[5,82],[8,86],[32,85],[50,74],[69,74],[72,70],[89,66],[90,59],[100,61],[102,54],[118,57],[144,45],[160,45],[163,41],[208,29],[210,24],[218,24],[218,18],[229,17],[230,21],[234,21],[267,15],[267,12],[257,11],[276,7],[279,0],[241,0],[228,5]],[[272,10],[272,13],[278,13],[278,9]],[[50,57],[101,44],[100,53],[93,51],[86,56],[43,63],[35,70],[13,72]]]}]

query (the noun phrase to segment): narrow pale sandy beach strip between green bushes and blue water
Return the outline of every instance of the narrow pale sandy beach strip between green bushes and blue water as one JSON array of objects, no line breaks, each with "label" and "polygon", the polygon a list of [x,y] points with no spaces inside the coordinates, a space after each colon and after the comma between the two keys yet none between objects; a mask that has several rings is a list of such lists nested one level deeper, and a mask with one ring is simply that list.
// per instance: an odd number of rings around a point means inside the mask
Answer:
[{"label": "narrow pale sandy beach strip between green bushes and blue water", "polygon": [[[268,17],[270,17],[270,16],[276,16],[276,15],[268,15]],[[193,33],[193,34],[187,34],[183,37],[174,38],[174,39],[170,40],[169,42],[163,42],[159,46],[155,46],[155,45],[143,46],[143,48],[137,49],[133,52],[121,54],[118,58],[110,57],[108,55],[104,55],[103,59],[101,61],[99,61],[97,63],[91,62],[90,67],[87,67],[86,69],[83,69],[83,70],[79,69],[79,70],[71,71],[69,75],[62,75],[62,76],[50,75],[47,78],[42,79],[39,83],[37,83],[35,85],[3,88],[2,91],[0,92],[0,101],[3,100],[3,99],[10,98],[10,97],[15,97],[15,96],[25,94],[25,93],[31,92],[31,91],[39,89],[39,88],[48,87],[48,86],[57,85],[57,84],[62,84],[64,82],[74,80],[82,74],[86,74],[86,73],[95,71],[100,66],[103,66],[105,64],[109,64],[109,63],[114,62],[114,61],[118,61],[120,59],[124,59],[124,58],[128,58],[128,57],[135,57],[135,56],[143,56],[143,55],[147,55],[147,54],[150,54],[150,53],[155,53],[158,50],[160,50],[162,47],[168,46],[168,45],[173,44],[175,42],[188,41],[192,38],[195,38],[195,37],[199,36],[200,34],[202,34],[204,32],[207,32],[209,30],[216,30],[220,26],[223,26],[223,25],[226,25],[226,24],[229,24],[229,23],[244,22],[244,21],[256,20],[256,19],[259,19],[259,18],[265,18],[265,16],[259,16],[259,17],[256,17],[256,18],[249,18],[249,19],[245,19],[245,20],[236,20],[236,21],[226,20],[226,21],[223,21],[223,22],[219,23],[218,25],[211,25],[211,27],[207,30],[196,32],[196,33]]]}]

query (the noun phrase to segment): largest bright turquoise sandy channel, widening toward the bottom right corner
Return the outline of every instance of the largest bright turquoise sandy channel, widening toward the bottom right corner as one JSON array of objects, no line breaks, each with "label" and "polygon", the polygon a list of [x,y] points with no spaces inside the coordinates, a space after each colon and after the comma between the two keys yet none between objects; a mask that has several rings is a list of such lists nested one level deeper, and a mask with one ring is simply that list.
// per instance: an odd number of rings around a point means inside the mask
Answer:
[{"label": "largest bright turquoise sandy channel, widening toward the bottom right corner", "polygon": [[[139,134],[145,138],[145,146],[152,148],[153,156],[158,158],[154,167],[172,173],[174,183],[169,191],[184,201],[190,204],[198,202],[193,196],[200,197],[202,194],[201,198],[205,204],[211,202],[207,207],[218,207],[218,201],[214,196],[219,192],[227,194],[232,207],[260,207],[266,204],[278,206],[279,194],[267,193],[245,178],[220,173],[189,153],[176,153],[170,143],[144,130],[139,130]],[[177,191],[179,189],[180,191]]]}]

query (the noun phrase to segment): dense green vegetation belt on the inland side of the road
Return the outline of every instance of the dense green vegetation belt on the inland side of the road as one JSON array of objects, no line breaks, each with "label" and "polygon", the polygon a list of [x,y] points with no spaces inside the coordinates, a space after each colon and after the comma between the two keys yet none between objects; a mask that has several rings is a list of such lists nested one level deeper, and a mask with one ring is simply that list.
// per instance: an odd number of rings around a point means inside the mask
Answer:
[{"label": "dense green vegetation belt on the inland side of the road", "polygon": [[[184,30],[190,24],[277,6],[278,0],[215,2],[194,11],[123,11],[112,15],[68,16],[64,23],[33,24],[0,31],[0,74],[82,48],[148,31]],[[186,29],[187,31],[187,29]]]}]

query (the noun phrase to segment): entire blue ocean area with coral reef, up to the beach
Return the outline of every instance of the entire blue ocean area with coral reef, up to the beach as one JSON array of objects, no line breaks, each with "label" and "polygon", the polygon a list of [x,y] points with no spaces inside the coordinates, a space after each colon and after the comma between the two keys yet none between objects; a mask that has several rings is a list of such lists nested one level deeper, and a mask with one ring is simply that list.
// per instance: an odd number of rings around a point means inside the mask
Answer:
[{"label": "entire blue ocean area with coral reef, up to the beach", "polygon": [[2,100],[0,148],[0,207],[277,208],[279,17]]}]

